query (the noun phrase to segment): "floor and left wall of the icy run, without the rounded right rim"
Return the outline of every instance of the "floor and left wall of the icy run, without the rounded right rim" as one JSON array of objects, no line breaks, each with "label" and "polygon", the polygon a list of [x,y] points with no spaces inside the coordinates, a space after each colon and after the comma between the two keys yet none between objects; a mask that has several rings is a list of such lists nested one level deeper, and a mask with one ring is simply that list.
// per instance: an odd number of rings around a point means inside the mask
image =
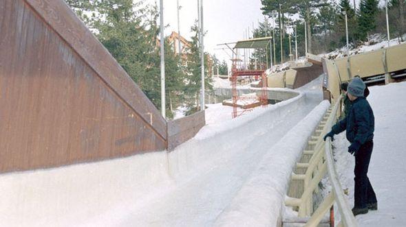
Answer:
[{"label": "floor and left wall of the icy run, without the rounded right rim", "polygon": [[211,226],[268,147],[319,104],[314,89],[205,126],[170,154],[1,174],[0,226]]}]

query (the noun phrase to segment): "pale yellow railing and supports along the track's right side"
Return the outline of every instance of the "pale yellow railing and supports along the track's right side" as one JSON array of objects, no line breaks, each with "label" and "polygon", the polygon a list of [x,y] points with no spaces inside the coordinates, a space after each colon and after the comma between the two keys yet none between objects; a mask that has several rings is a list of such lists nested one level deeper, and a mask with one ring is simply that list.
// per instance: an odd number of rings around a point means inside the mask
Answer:
[{"label": "pale yellow railing and supports along the track's right side", "polygon": [[[312,149],[305,150],[303,154],[310,154],[308,163],[297,163],[297,167],[307,167],[306,174],[292,174],[292,180],[303,180],[304,191],[301,198],[287,198],[287,206],[299,208],[299,217],[308,217],[311,215],[306,226],[317,226],[326,212],[328,212],[334,201],[339,207],[341,214],[341,223],[343,226],[357,226],[354,215],[352,215],[348,200],[345,198],[344,191],[339,182],[332,158],[332,149],[330,138],[323,141],[323,136],[330,131],[332,125],[340,115],[341,96],[337,99],[334,107],[330,106],[325,116],[321,120],[316,133],[318,136],[312,136],[308,142]],[[320,180],[328,173],[332,184],[332,191],[319,205],[316,211],[313,211],[313,192],[318,191]]]}]

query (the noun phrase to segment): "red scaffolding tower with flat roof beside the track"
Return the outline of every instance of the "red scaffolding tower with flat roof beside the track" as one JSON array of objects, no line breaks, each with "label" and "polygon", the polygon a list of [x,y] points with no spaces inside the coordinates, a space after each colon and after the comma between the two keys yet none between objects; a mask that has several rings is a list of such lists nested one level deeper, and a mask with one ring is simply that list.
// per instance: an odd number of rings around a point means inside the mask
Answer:
[{"label": "red scaffolding tower with flat roof beside the track", "polygon": [[[250,51],[262,49],[264,56],[267,56],[270,41],[271,37],[242,40],[238,41],[233,48],[233,65],[230,77],[233,96],[233,118],[244,115],[245,112],[251,111],[257,106],[268,105],[266,80],[268,58],[266,57],[266,62],[264,62],[265,59],[260,57],[252,58]],[[261,56],[261,54],[258,56]],[[239,94],[237,86],[243,85],[244,82],[248,82],[248,84],[257,82],[257,91],[252,94]],[[238,110],[238,108],[242,108],[242,110]]]}]

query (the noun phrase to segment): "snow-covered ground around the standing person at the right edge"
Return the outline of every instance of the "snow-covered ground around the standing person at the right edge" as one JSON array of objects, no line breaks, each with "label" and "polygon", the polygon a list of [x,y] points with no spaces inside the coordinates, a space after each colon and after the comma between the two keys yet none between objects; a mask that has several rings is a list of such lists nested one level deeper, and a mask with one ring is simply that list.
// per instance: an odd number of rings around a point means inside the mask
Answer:
[{"label": "snow-covered ground around the standing person at the right edge", "polygon": [[[378,211],[359,215],[356,220],[359,226],[406,226],[406,82],[372,86],[370,92],[367,100],[374,110],[375,133],[368,176],[378,199]],[[350,144],[345,133],[336,136],[333,144],[341,184],[350,189],[353,205],[354,156],[347,152]]]}]

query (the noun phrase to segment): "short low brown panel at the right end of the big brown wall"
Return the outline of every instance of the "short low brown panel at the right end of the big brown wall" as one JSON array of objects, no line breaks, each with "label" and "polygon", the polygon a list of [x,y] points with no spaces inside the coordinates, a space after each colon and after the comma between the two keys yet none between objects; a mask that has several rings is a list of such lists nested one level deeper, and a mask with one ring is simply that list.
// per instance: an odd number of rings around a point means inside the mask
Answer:
[{"label": "short low brown panel at the right end of the big brown wall", "polygon": [[168,122],[168,150],[193,138],[206,125],[204,111]]}]

